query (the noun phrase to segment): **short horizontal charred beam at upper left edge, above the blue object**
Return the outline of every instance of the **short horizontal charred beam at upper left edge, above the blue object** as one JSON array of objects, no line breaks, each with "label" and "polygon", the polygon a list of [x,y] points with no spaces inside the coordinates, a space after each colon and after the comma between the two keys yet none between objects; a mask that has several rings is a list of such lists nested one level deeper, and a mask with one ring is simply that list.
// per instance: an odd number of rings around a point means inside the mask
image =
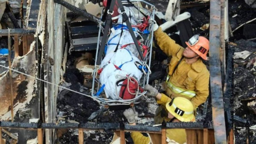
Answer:
[{"label": "short horizontal charred beam at upper left edge, above the blue object", "polygon": [[[11,29],[11,36],[33,35],[35,29]],[[0,29],[0,36],[8,36],[8,29]]]}]

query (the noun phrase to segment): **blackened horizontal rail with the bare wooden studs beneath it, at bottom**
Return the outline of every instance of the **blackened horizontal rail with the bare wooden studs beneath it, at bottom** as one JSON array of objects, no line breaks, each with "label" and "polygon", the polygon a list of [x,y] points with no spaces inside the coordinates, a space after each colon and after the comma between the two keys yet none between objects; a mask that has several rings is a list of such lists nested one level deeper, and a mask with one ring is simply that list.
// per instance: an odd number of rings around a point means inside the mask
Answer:
[{"label": "blackened horizontal rail with the bare wooden studs beneath it, at bottom", "polygon": [[[113,132],[120,132],[121,144],[125,144],[125,135],[124,132],[148,132],[148,133],[158,133],[162,135],[161,144],[166,144],[166,129],[177,129],[183,128],[187,130],[187,133],[196,133],[196,130],[201,130],[201,140],[198,140],[198,144],[204,143],[209,144],[213,143],[214,139],[210,134],[210,131],[213,131],[213,127],[211,124],[208,124],[208,127],[204,127],[203,122],[180,122],[180,123],[167,123],[162,126],[153,127],[153,126],[144,126],[144,125],[136,125],[131,126],[129,124],[123,123],[64,123],[64,124],[55,124],[55,123],[20,123],[20,122],[9,122],[2,121],[0,122],[0,132],[2,128],[9,129],[26,129],[26,130],[37,130],[38,132],[38,144],[43,144],[43,129],[78,129],[79,130],[79,144],[84,143],[84,130],[107,130]],[[187,143],[192,144],[194,138],[187,137]],[[191,140],[189,142],[189,140]],[[0,144],[2,144],[2,137],[0,137]]]}]

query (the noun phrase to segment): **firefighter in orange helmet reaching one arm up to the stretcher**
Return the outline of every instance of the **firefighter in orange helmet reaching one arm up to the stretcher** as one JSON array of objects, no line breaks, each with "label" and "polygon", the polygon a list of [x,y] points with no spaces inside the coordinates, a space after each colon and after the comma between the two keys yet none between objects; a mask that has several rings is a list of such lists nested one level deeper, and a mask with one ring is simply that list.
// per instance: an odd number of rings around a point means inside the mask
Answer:
[{"label": "firefighter in orange helmet reaching one arm up to the stretcher", "polygon": [[[154,24],[154,37],[160,49],[166,55],[172,56],[166,78],[166,94],[170,98],[187,98],[192,102],[196,112],[196,108],[203,104],[209,95],[209,71],[203,63],[203,60],[207,60],[209,40],[194,35],[186,42],[187,47],[184,49],[163,32],[157,24]],[[152,91],[154,88],[149,89],[145,86],[145,90]],[[156,124],[162,123],[159,115],[164,112],[163,109],[165,108],[159,107],[157,109]]]}]

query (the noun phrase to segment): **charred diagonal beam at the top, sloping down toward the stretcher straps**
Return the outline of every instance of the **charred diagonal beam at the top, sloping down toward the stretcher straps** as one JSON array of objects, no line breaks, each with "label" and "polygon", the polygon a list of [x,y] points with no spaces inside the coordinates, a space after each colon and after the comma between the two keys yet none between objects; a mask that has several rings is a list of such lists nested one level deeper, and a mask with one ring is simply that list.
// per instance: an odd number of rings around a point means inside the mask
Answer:
[{"label": "charred diagonal beam at the top, sloping down toward the stretcher straps", "polygon": [[79,9],[76,6],[71,5],[70,3],[67,3],[64,0],[54,0],[54,3],[58,3],[66,7],[70,11],[80,14],[81,16],[87,18],[88,20],[94,21],[96,23],[101,23],[101,20],[98,17],[95,17],[94,15],[87,13],[86,10]]}]

